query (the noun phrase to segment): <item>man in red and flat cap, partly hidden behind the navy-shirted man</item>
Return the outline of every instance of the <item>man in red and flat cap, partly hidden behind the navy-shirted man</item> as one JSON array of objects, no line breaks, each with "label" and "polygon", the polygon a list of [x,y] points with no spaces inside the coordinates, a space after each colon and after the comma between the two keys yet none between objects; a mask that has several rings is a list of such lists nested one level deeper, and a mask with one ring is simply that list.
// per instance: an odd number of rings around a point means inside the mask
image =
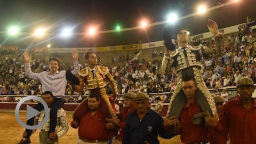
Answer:
[{"label": "man in red and flat cap, partly hidden behind the navy-shirted man", "polygon": [[124,138],[124,126],[125,126],[125,120],[127,116],[132,113],[134,110],[136,110],[133,97],[136,94],[134,92],[128,92],[124,94],[124,107],[121,110],[121,113],[119,114],[119,122],[116,118],[109,118],[107,121],[110,123],[113,123],[120,128],[120,137],[123,140]]}]

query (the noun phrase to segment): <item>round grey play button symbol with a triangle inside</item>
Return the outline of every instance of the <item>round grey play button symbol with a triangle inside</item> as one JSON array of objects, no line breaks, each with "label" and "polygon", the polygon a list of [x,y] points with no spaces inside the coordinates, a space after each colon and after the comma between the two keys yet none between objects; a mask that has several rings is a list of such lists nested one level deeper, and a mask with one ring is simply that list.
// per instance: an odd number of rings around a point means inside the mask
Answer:
[{"label": "round grey play button symbol with a triangle inside", "polygon": [[[37,124],[37,125],[27,125],[27,124],[23,123],[23,122],[21,121],[21,119],[20,119],[20,114],[19,114],[20,106],[21,106],[22,103],[24,103],[25,101],[31,100],[31,99],[37,100],[37,101],[41,102],[42,105],[44,106],[44,110],[45,110],[45,116],[44,116],[43,121],[42,121],[41,123]],[[28,121],[29,119],[33,118],[34,116],[38,115],[38,114],[40,114],[40,111],[38,111],[38,110],[34,109],[33,107],[30,107],[30,106],[27,105],[27,121]],[[48,117],[49,117],[49,109],[48,109],[48,106],[47,106],[47,104],[45,103],[45,101],[44,101],[43,99],[41,99],[41,98],[39,98],[39,97],[36,97],[36,96],[34,96],[34,95],[33,95],[33,96],[28,96],[28,97],[25,97],[25,98],[21,99],[21,100],[18,102],[18,104],[17,104],[17,106],[16,106],[16,108],[15,108],[15,117],[16,117],[18,123],[19,123],[21,126],[25,127],[26,129],[29,129],[29,130],[36,130],[36,129],[38,129],[39,127],[42,127],[42,126],[46,123],[46,121],[47,121],[47,119],[48,119]]]}]

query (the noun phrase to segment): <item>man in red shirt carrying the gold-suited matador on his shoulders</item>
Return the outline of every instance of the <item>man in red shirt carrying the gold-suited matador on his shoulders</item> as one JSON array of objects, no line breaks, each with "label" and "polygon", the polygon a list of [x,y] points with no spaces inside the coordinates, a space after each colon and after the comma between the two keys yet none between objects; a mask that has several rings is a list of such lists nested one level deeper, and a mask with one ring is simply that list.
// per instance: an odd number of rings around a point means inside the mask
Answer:
[{"label": "man in red shirt carrying the gold-suited matador on his shoulders", "polygon": [[107,121],[100,110],[100,97],[97,93],[90,93],[88,99],[89,111],[81,118],[81,121],[71,122],[71,126],[77,129],[77,144],[100,143],[105,144],[116,133],[115,129],[107,128]]}]

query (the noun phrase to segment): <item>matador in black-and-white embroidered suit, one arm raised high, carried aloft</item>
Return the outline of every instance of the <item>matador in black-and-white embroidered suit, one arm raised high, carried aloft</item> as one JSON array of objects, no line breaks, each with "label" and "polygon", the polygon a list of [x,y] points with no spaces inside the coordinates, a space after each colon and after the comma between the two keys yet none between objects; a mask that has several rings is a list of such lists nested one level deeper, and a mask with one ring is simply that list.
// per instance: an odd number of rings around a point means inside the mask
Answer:
[{"label": "matador in black-and-white embroidered suit, one arm raised high, carried aloft", "polygon": [[169,103],[168,117],[175,116],[179,118],[181,110],[186,104],[186,97],[182,91],[182,79],[187,76],[196,79],[196,102],[201,107],[202,112],[209,111],[215,117],[216,108],[214,100],[202,77],[204,66],[202,65],[201,58],[222,57],[225,49],[223,47],[223,37],[218,31],[217,23],[211,19],[208,22],[209,25],[207,27],[215,39],[214,48],[189,45],[188,34],[185,28],[175,31],[173,35],[175,44],[173,44],[170,26],[164,28],[164,47],[166,53],[162,61],[162,74],[171,75],[175,71],[178,77],[177,89],[175,89]]}]

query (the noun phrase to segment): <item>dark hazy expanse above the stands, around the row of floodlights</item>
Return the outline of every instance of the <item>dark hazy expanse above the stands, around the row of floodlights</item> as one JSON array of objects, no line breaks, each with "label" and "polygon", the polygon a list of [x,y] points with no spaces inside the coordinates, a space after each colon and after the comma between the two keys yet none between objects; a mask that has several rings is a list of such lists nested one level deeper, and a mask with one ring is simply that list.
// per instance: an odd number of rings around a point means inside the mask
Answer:
[{"label": "dark hazy expanse above the stands, around the row of floodlights", "polygon": [[[141,19],[149,23],[166,20],[166,15],[175,12],[178,17],[196,11],[199,4],[207,7],[217,6],[235,0],[106,0],[106,1],[29,1],[13,0],[0,3],[0,43],[2,45],[27,47],[90,47],[148,43],[161,41],[162,29],[166,24],[146,27],[144,29],[102,33],[94,36],[73,35],[59,37],[63,27],[72,27],[74,33],[86,33],[89,26],[97,26],[100,31],[137,27]],[[255,17],[255,0],[239,2],[220,7],[194,17],[179,20],[173,28],[185,27],[191,35],[204,33],[207,30],[207,19],[217,21],[219,28],[225,28],[246,22],[246,17]],[[18,25],[22,35],[11,37],[4,33],[10,25]],[[47,27],[43,38],[30,36],[38,26]]]}]

